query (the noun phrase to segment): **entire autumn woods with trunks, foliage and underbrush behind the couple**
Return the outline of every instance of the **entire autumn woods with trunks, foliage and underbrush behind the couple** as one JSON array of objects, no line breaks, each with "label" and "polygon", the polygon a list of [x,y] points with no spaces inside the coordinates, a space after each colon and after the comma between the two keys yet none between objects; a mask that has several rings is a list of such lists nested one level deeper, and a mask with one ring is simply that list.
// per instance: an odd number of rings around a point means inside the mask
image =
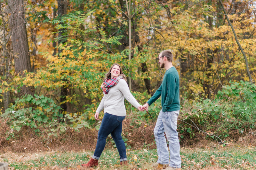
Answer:
[{"label": "entire autumn woods with trunks, foliage and underbrush behind the couple", "polygon": [[[255,1],[0,3],[0,148],[33,149],[32,141],[45,148],[91,148],[109,67],[121,65],[132,94],[144,104],[162,82],[165,70],[157,57],[166,49],[180,75],[181,145],[255,137]],[[125,105],[127,147],[155,147],[161,100],[148,112]],[[115,147],[111,138],[108,143]]]}]

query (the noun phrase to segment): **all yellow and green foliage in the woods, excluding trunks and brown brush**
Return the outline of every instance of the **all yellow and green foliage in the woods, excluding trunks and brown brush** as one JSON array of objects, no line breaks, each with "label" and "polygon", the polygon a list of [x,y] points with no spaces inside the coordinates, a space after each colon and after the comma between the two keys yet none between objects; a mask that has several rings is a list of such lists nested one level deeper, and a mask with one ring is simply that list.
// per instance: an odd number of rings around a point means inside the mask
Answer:
[{"label": "all yellow and green foliage in the woods, excluding trunks and brown brush", "polygon": [[[244,59],[240,57],[241,53],[230,27],[225,24],[225,17],[218,13],[218,3],[167,1],[157,4],[152,1],[145,6],[144,1],[136,1],[132,8],[132,13],[136,11],[132,19],[132,59],[128,60],[131,53],[127,49],[128,20],[116,8],[127,12],[125,4],[122,6],[118,1],[109,2],[115,6],[107,1],[96,0],[80,4],[79,1],[72,0],[68,14],[55,18],[52,14],[57,11],[56,3],[32,5],[33,3],[28,1],[31,4],[27,6],[29,9],[26,11],[27,30],[30,30],[29,50],[35,69],[33,68],[31,73],[24,71],[21,76],[21,73],[15,73],[13,58],[1,58],[1,68],[5,70],[4,74],[0,75],[1,107],[4,107],[3,101],[7,98],[7,92],[10,92],[10,101],[16,101],[15,104],[11,103],[2,115],[9,119],[12,130],[16,132],[26,127],[40,135],[41,129],[45,129],[50,137],[64,133],[67,127],[75,130],[93,127],[96,122],[93,115],[103,96],[100,84],[113,63],[119,63],[125,75],[132,73],[132,90],[135,89],[132,94],[141,104],[145,103],[151,94],[145,91],[143,80],[150,80],[150,87],[154,92],[163,78],[164,70],[156,66],[156,57],[162,47],[172,50],[173,65],[180,73],[180,95],[190,99],[186,100],[183,106],[192,108],[182,115],[184,121],[191,123],[191,119],[201,129],[212,131],[221,138],[228,137],[232,131],[243,133],[255,129],[255,85],[244,81],[230,81],[231,85],[224,86],[217,95],[210,94],[211,90],[216,93],[220,89],[217,79],[225,84],[229,80],[248,80],[244,74]],[[247,4],[248,7],[250,3],[244,1],[239,5],[245,7]],[[245,10],[244,7],[239,6],[238,9]],[[252,77],[255,78],[255,57],[252,57],[255,54],[256,42],[254,20],[245,17],[253,12],[245,11],[229,17],[240,34],[239,41],[248,56]],[[4,19],[9,23],[8,15],[5,16],[1,24]],[[9,29],[4,25],[5,27],[4,30]],[[65,43],[58,44],[55,49],[51,43],[59,40],[56,36],[60,29],[63,33],[61,39]],[[2,39],[8,37],[8,31],[6,33],[6,37]],[[30,37],[36,37],[36,40]],[[48,44],[45,43],[45,38],[48,39]],[[40,47],[37,47],[36,41],[41,43]],[[8,56],[16,57],[17,54],[12,54],[11,43],[7,44],[0,46],[2,51],[6,50],[6,53],[10,53]],[[36,57],[34,48],[37,50],[36,54],[38,52]],[[142,65],[146,69],[142,69]],[[39,96],[28,95],[17,99],[20,97],[22,86],[33,86]],[[68,94],[65,101],[59,103],[61,87],[68,89]],[[199,94],[193,96],[193,92]],[[206,99],[210,96],[213,96],[212,99]],[[195,100],[191,100],[193,98]],[[59,106],[63,103],[68,103],[71,109],[67,112],[60,110]],[[161,110],[161,100],[158,99],[152,104],[148,112],[138,112],[134,108],[130,110],[127,101],[125,106],[127,111],[139,115],[134,117],[132,124],[141,125],[142,122],[156,121]],[[0,114],[2,112],[4,111]],[[96,125],[96,129],[99,125]],[[187,124],[181,124],[179,131],[191,138],[195,136],[195,129]],[[13,133],[10,135],[14,137]],[[183,135],[181,139],[184,138]]]}]

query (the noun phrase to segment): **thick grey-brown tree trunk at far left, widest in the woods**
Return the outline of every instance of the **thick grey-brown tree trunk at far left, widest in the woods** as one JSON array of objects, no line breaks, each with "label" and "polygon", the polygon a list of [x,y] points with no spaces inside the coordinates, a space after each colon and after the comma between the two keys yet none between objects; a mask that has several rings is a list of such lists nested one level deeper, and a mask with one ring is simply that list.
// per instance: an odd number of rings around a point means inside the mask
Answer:
[{"label": "thick grey-brown tree trunk at far left, widest in the woods", "polygon": [[[28,50],[28,35],[25,21],[25,9],[23,0],[8,0],[11,13],[10,28],[12,33],[12,48],[14,53],[15,72],[23,74],[24,70],[32,72],[30,55]],[[22,95],[34,95],[34,87],[23,86]]]}]

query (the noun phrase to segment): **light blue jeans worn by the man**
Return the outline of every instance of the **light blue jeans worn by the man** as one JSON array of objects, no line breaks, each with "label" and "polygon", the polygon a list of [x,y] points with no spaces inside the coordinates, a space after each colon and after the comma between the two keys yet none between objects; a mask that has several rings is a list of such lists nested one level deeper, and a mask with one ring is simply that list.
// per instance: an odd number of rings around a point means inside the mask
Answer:
[{"label": "light blue jeans worn by the man", "polygon": [[[172,112],[163,112],[160,111],[156,126],[154,129],[154,135],[156,139],[157,154],[159,164],[170,164],[169,166],[173,168],[180,168],[181,159],[180,159],[180,142],[177,132],[177,119],[179,116],[180,110]],[[169,142],[170,148],[170,157],[169,151],[164,137],[164,131]],[[170,161],[169,161],[170,158]]]}]

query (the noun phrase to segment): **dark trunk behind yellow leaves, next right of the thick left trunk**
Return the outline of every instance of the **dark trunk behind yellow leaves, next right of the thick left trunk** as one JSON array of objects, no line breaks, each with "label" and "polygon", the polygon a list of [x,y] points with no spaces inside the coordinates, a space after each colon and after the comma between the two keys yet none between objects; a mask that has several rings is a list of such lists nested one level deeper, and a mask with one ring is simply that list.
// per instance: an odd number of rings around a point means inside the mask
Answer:
[{"label": "dark trunk behind yellow leaves, next right of the thick left trunk", "polygon": [[[67,14],[67,0],[58,0],[58,17],[59,19],[62,18],[62,16]],[[60,23],[62,24],[62,23]],[[65,37],[62,35],[65,31],[64,28],[61,28],[59,31],[59,41],[58,44],[64,44],[66,42]],[[59,49],[59,53],[62,52],[62,49]],[[63,81],[67,81],[67,79],[63,79]],[[66,102],[66,96],[68,94],[68,88],[66,86],[61,87],[60,91],[60,112],[63,112],[64,114],[67,112],[68,104]],[[63,115],[64,115],[63,114]]]}]

